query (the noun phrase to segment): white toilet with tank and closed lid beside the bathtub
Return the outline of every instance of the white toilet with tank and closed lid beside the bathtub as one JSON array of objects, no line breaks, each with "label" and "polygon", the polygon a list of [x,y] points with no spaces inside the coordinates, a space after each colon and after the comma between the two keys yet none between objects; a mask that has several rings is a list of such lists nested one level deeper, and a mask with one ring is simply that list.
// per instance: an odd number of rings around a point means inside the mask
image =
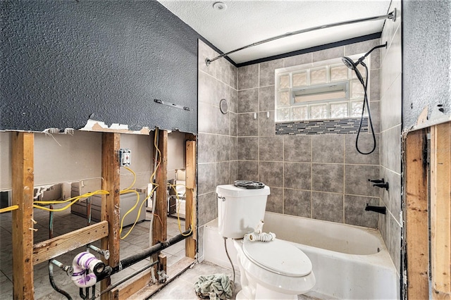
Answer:
[{"label": "white toilet with tank and closed lid beside the bathtub", "polygon": [[218,185],[219,234],[233,238],[242,290],[236,299],[297,299],[315,285],[311,261],[289,242],[243,239],[264,220],[269,187]]}]

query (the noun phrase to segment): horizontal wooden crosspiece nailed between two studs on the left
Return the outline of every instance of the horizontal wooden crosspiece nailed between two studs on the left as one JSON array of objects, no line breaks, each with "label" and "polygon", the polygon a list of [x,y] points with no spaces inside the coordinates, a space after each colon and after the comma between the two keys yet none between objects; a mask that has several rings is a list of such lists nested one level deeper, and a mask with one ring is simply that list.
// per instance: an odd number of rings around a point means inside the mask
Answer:
[{"label": "horizontal wooden crosspiece nailed between two studs on the left", "polygon": [[49,261],[81,246],[98,241],[108,236],[108,222],[106,220],[68,232],[53,239],[37,243],[33,246],[33,264]]}]

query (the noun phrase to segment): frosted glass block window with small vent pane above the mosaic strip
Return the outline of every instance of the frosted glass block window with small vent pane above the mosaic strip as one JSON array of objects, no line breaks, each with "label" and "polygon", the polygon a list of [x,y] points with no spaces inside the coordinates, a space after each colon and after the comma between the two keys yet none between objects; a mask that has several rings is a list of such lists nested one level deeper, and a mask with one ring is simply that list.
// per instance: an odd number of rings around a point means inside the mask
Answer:
[{"label": "frosted glass block window with small vent pane above the mosaic strip", "polygon": [[276,70],[276,122],[359,118],[363,99],[362,83],[341,58]]}]

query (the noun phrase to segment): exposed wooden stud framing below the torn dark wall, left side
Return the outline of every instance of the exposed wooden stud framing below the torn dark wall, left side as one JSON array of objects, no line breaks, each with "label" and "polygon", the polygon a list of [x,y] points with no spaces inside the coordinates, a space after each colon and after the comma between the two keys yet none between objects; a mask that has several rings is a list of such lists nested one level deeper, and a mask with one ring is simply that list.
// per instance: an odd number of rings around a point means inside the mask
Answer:
[{"label": "exposed wooden stud framing below the torn dark wall, left side", "polygon": [[[167,217],[167,136],[166,130],[156,130],[159,135],[159,153],[161,165],[156,172],[156,208],[154,213],[159,215],[160,222],[154,222],[154,240],[152,244],[166,241],[166,217]],[[101,249],[108,249],[110,257],[104,260],[112,268],[120,263],[120,166],[118,163],[118,149],[120,148],[121,134],[118,132],[103,132],[101,142],[101,189],[109,192],[102,196],[101,221],[94,225],[82,227],[79,230],[68,232],[47,239],[44,242],[33,244],[33,189],[34,180],[34,146],[35,134],[32,132],[11,132],[11,168],[12,168],[12,194],[13,205],[18,209],[12,212],[13,228],[13,298],[33,299],[34,282],[33,267],[56,258],[68,251],[85,246],[101,239]],[[170,276],[169,281],[175,275],[186,270],[192,263],[197,253],[196,244],[196,137],[185,135],[186,141],[186,219],[185,228],[193,233],[185,242],[185,258],[166,269],[166,258],[156,254],[156,260]],[[116,288],[111,288],[111,280],[107,277],[101,281],[101,291],[109,289],[101,295],[101,299],[127,299],[130,297],[145,297],[161,289],[166,283],[157,283],[149,287],[152,279],[150,271],[143,272],[124,282]]]}]

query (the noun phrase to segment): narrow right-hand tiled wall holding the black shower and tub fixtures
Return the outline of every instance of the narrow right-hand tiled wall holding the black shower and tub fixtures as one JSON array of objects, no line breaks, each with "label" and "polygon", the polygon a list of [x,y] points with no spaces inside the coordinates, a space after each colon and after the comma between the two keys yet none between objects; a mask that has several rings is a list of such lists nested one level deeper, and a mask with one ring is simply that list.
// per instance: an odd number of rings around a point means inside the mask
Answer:
[{"label": "narrow right-hand tiled wall holding the black shower and tub fixtures", "polygon": [[[390,189],[381,189],[381,205],[387,207],[387,213],[381,215],[378,227],[390,252],[393,264],[398,269],[398,276],[402,274],[402,165],[401,165],[401,132],[402,132],[402,12],[401,0],[392,1],[389,11],[397,9],[395,22],[385,23],[381,35],[381,43],[387,42],[387,48],[381,49],[379,56],[381,72],[379,81],[380,111],[381,111],[381,140],[380,147],[380,177],[389,182]],[[398,18],[399,17],[399,18]],[[371,91],[375,93],[376,91]],[[399,280],[398,280],[399,282]],[[398,289],[400,290],[400,289]]]}]

